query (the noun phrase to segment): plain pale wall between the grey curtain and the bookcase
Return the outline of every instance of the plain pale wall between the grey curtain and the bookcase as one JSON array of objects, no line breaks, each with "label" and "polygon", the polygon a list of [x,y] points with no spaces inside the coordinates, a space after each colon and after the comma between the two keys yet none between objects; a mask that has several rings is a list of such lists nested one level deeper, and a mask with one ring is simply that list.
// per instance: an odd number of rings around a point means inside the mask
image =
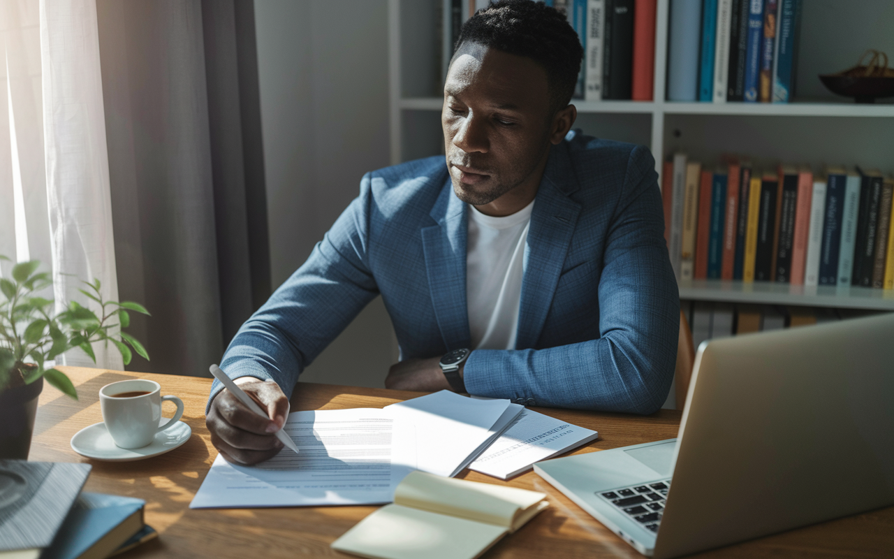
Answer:
[{"label": "plain pale wall between the grey curtain and the bookcase", "polygon": [[[389,164],[387,2],[256,0],[255,22],[275,288]],[[383,386],[396,354],[379,298],[302,380]]]}]

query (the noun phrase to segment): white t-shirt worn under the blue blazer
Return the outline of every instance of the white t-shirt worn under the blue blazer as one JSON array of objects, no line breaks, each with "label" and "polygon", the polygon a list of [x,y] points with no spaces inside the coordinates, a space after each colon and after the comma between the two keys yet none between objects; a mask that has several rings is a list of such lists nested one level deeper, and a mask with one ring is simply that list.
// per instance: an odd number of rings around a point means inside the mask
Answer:
[{"label": "white t-shirt worn under the blue blazer", "polygon": [[532,200],[511,216],[468,206],[466,304],[473,350],[514,350]]}]

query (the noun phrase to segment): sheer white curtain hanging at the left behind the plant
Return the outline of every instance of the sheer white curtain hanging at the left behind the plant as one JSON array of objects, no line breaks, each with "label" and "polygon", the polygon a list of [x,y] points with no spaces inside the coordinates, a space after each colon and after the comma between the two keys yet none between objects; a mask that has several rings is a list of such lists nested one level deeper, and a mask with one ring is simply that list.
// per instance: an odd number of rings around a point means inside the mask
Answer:
[{"label": "sheer white curtain hanging at the left behind the plant", "polygon": [[[0,254],[52,268],[57,309],[118,299],[95,0],[0,2]],[[4,269],[8,273],[8,267]],[[94,344],[97,367],[123,368]],[[79,351],[65,364],[93,366]]]}]

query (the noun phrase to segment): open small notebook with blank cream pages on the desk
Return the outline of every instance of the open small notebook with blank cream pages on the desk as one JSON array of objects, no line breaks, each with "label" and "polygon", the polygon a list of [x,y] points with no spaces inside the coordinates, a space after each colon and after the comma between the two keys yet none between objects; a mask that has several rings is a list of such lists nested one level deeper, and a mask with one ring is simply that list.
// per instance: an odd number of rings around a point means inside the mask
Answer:
[{"label": "open small notebook with blank cream pages on the desk", "polygon": [[474,559],[543,511],[546,495],[414,471],[333,549],[373,559]]}]

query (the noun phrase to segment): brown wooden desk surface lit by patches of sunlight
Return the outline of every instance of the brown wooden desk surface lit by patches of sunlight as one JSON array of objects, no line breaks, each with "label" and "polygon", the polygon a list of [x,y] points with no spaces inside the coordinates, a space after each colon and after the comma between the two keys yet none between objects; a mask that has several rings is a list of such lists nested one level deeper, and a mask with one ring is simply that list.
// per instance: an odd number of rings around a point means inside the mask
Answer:
[{"label": "brown wooden desk surface lit by patches of sunlight", "polygon": [[[122,557],[284,557],[341,556],[329,544],[375,510],[372,506],[277,509],[190,510],[189,504],[217,452],[205,428],[205,402],[211,379],[135,374],[93,368],[63,368],[78,387],[74,402],[52,387],[40,394],[30,460],[91,462],[86,489],[145,499],[146,521],[160,538]],[[98,390],[126,378],[151,378],[162,394],[181,397],[183,421],[192,428],[180,448],[139,462],[89,461],[72,451],[69,441],[81,428],[102,420]],[[383,407],[418,393],[351,386],[302,383],[291,410],[333,410]],[[165,414],[171,411],[164,408]],[[557,418],[599,431],[599,439],[575,453],[635,445],[677,436],[679,411],[662,410],[650,417],[536,408]],[[833,444],[830,444],[833,447]],[[549,495],[552,506],[518,533],[503,538],[485,554],[494,557],[630,557],[642,555],[589,514],[572,504],[533,472],[509,482],[474,471],[460,478],[509,483]],[[894,555],[894,507],[838,521],[723,547],[698,557],[890,557]]]}]

